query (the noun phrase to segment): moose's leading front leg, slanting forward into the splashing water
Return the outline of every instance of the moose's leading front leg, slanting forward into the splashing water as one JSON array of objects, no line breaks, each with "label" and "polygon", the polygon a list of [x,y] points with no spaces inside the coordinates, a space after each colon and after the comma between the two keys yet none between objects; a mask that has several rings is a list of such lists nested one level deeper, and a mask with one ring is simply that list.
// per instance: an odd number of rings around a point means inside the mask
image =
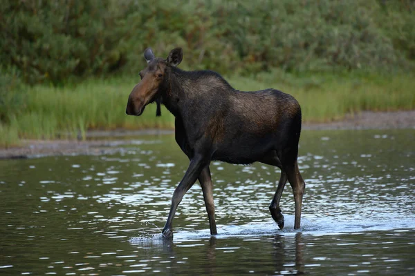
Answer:
[{"label": "moose's leading front leg, slanting forward into the splashing water", "polygon": [[166,224],[163,228],[164,237],[173,237],[172,221],[174,214],[176,213],[177,206],[180,204],[187,190],[189,190],[193,186],[194,182],[196,182],[197,177],[201,174],[201,170],[207,164],[208,161],[205,161],[201,155],[196,155],[190,160],[190,165],[189,168],[187,168],[185,176],[180,184],[178,184],[176,190],[174,190],[169,217],[167,217]]}]

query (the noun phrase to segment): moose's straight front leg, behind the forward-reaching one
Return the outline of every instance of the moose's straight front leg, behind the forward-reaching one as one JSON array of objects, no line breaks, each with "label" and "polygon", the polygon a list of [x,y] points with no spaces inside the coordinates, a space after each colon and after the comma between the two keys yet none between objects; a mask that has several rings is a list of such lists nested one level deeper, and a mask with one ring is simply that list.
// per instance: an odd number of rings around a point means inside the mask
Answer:
[{"label": "moose's straight front leg, behind the forward-reaching one", "polygon": [[209,217],[210,235],[216,235],[216,222],[214,221],[214,201],[213,201],[213,183],[210,176],[209,166],[203,168],[199,175],[199,182],[203,190],[203,199],[205,199],[206,211]]}]

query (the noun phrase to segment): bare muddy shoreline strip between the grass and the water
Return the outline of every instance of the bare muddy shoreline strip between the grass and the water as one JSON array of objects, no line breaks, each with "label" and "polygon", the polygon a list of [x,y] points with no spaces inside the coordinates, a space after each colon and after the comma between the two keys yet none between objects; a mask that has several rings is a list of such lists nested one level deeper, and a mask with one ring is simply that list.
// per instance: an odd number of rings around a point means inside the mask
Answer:
[{"label": "bare muddy shoreline strip between the grass and the water", "polygon": [[[415,110],[396,112],[360,112],[347,115],[341,121],[306,123],[303,130],[415,130]],[[0,149],[0,159],[26,159],[50,155],[102,155],[122,152],[123,146],[133,144],[131,137],[173,134],[174,130],[91,130],[86,141],[77,140],[23,140],[21,146]],[[130,138],[130,139],[129,139]]]}]

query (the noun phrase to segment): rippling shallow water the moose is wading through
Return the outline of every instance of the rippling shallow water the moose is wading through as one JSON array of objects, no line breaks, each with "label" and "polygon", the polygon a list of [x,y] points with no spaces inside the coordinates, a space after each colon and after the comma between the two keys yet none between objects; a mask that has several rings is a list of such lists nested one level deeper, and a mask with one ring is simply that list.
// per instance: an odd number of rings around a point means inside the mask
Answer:
[{"label": "rippling shallow water the moose is wading through", "polygon": [[187,157],[172,135],[116,155],[0,160],[2,275],[415,275],[415,130],[304,131],[302,228],[268,213],[279,169],[212,162],[211,237],[194,185],[163,240]]}]

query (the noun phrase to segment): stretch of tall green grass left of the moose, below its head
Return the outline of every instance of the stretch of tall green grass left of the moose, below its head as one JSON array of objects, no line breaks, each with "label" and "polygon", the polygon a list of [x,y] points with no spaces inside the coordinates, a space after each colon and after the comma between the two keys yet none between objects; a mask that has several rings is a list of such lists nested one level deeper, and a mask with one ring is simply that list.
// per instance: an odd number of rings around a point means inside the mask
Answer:
[{"label": "stretch of tall green grass left of the moose, below its head", "polygon": [[85,137],[89,129],[171,128],[171,116],[154,118],[155,105],[147,106],[141,117],[125,115],[134,84],[131,79],[94,79],[64,88],[26,87],[25,111],[12,120],[11,127],[17,128],[19,137],[35,139]]}]

